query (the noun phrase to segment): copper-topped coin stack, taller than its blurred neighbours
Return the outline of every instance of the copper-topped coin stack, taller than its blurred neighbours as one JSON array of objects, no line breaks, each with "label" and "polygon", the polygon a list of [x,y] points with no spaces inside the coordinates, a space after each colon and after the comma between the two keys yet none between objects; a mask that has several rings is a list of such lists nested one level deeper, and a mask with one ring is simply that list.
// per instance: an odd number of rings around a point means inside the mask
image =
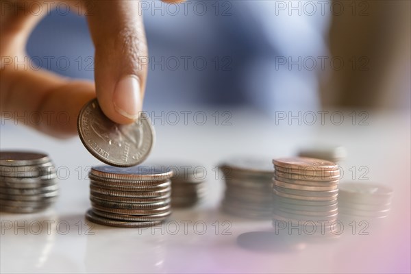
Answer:
[{"label": "copper-topped coin stack, taller than its blurred neighbours", "polygon": [[[340,171],[334,162],[314,158],[281,158],[273,160],[275,208],[273,225],[310,227],[319,233],[338,216],[338,179]],[[298,229],[295,229],[295,233]]]}]

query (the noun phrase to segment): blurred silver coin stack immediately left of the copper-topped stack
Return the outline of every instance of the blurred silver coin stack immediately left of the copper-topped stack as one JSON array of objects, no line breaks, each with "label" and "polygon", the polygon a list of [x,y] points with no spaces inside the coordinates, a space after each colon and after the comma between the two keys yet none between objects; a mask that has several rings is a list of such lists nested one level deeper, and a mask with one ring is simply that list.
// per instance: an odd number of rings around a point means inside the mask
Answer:
[{"label": "blurred silver coin stack immediately left of the copper-topped stack", "polygon": [[240,158],[221,164],[220,169],[225,180],[223,211],[245,218],[271,219],[273,168],[270,161]]}]

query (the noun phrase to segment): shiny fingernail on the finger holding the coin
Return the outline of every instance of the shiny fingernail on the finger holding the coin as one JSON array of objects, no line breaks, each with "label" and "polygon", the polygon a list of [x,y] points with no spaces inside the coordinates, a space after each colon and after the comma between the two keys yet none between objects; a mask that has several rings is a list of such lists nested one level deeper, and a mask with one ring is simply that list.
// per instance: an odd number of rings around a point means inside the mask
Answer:
[{"label": "shiny fingernail on the finger holding the coin", "polygon": [[138,119],[141,111],[140,83],[134,75],[123,77],[113,95],[114,109],[128,119]]}]

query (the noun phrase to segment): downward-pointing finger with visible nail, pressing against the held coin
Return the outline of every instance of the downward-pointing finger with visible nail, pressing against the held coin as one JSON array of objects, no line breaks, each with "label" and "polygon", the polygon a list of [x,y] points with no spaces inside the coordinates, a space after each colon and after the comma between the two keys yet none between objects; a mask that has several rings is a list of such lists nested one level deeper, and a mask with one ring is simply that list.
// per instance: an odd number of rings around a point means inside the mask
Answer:
[{"label": "downward-pointing finger with visible nail, pressing against the held coin", "polygon": [[88,25],[95,44],[95,85],[101,110],[132,123],[142,110],[147,42],[139,1],[95,1]]}]

